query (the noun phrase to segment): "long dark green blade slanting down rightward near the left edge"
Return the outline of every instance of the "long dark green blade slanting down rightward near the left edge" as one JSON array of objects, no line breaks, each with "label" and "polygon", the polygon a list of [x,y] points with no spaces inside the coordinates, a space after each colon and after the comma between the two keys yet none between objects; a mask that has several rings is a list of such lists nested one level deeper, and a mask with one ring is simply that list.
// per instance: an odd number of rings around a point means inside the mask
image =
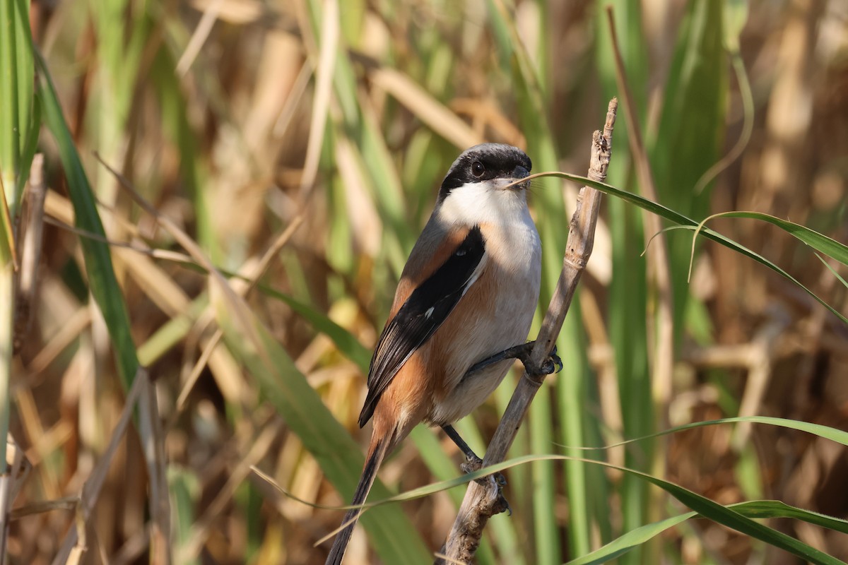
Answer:
[{"label": "long dark green blade slanting down rightward near the left edge", "polygon": [[[106,234],[95,205],[92,187],[88,182],[85,169],[82,168],[68,125],[65,123],[47,63],[37,52],[36,62],[39,70],[38,93],[42,98],[44,121],[59,147],[59,158],[62,160],[68,180],[70,201],[74,205],[76,227],[99,235],[104,240]],[[88,285],[103,313],[103,319],[106,320],[106,327],[109,329],[109,337],[114,344],[121,383],[125,391],[129,391],[138,368],[136,346],[130,333],[130,317],[126,310],[124,295],[114,275],[109,245],[103,240],[81,237],[80,246],[86,261]]]}]

